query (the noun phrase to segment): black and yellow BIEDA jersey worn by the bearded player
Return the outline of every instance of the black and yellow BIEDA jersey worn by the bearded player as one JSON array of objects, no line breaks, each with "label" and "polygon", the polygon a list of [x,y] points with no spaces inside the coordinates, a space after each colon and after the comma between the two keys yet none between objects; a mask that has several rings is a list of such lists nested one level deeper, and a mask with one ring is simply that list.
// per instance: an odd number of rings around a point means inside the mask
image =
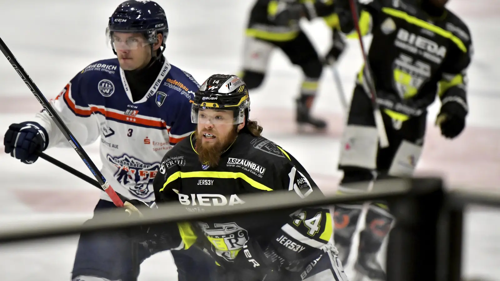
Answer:
[{"label": "black and yellow BIEDA jersey worn by the bearded player", "polygon": [[[163,157],[153,182],[156,202],[178,201],[189,211],[203,211],[244,204],[241,195],[245,193],[265,196],[267,192],[288,190],[304,198],[311,192],[321,192],[292,155],[264,137],[240,132],[216,167],[198,160],[194,138],[193,133]],[[177,225],[184,248],[202,245],[222,266],[230,266],[248,239],[262,249],[272,247],[284,260],[284,268],[297,266],[301,263],[298,261],[307,264],[321,254],[332,234],[330,213],[323,207]]]}]

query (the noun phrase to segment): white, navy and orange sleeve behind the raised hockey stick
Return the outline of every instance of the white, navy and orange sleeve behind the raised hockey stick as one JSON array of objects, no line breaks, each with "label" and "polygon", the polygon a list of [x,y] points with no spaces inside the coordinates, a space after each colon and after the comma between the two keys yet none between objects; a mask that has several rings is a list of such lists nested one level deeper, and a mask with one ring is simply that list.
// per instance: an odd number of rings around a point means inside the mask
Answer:
[{"label": "white, navy and orange sleeve behind the raised hockey stick", "polygon": [[[87,78],[88,74],[82,70],[64,86],[54,99],[49,101],[81,145],[94,142],[100,134],[97,120],[92,116],[92,112],[99,109],[89,105],[86,99]],[[37,113],[34,121],[47,131],[49,141],[47,147],[70,146],[45,110]]]}]

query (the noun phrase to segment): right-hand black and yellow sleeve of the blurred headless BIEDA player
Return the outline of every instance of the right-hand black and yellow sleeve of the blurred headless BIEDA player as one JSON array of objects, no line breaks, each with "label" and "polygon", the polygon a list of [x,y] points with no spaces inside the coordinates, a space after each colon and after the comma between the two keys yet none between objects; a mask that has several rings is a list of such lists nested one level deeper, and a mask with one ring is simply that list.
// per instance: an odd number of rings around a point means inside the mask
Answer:
[{"label": "right-hand black and yellow sleeve of the blurred headless BIEDA player", "polygon": [[450,33],[452,43],[443,61],[438,95],[442,105],[456,102],[467,112],[467,68],[472,59],[472,39],[464,24],[448,25],[453,26],[455,32]]}]

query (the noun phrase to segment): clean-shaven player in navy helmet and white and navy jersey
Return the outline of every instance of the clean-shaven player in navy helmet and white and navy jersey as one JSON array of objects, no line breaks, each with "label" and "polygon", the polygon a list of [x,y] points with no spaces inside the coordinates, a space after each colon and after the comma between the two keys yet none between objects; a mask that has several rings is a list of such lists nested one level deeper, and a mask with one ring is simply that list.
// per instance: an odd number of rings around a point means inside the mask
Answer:
[{"label": "clean-shaven player in navy helmet and white and navy jersey", "polygon": [[[199,85],[163,56],[168,25],[157,3],[121,3],[109,17],[106,31],[117,57],[86,66],[51,104],[79,143],[100,139],[101,172],[118,193],[152,202],[152,182],[162,155],[195,128],[189,101]],[[3,143],[6,153],[29,164],[37,159],[35,151],[68,142],[41,111],[30,121],[11,124]],[[101,192],[95,210],[109,207],[113,203]],[[131,248],[131,241],[119,232],[98,237],[82,234],[73,280],[136,280],[132,272],[138,272],[139,264],[132,264]],[[141,247],[138,252],[139,262],[151,254]],[[189,251],[172,255],[179,280],[209,278],[205,264],[213,263],[198,260],[203,255]]]}]

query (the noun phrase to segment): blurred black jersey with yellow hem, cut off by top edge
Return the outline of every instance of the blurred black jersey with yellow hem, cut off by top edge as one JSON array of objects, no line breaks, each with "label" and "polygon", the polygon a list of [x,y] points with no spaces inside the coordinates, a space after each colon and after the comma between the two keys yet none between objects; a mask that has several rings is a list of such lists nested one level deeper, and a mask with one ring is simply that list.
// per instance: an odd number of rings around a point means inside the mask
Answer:
[{"label": "blurred black jersey with yellow hem, cut off by top edge", "polygon": [[[302,12],[291,11],[297,8]],[[266,41],[289,41],[297,37],[300,31],[300,17],[324,17],[326,24],[333,27],[338,25],[338,18],[332,13],[332,0],[256,0],[245,33],[246,36]]]}]

